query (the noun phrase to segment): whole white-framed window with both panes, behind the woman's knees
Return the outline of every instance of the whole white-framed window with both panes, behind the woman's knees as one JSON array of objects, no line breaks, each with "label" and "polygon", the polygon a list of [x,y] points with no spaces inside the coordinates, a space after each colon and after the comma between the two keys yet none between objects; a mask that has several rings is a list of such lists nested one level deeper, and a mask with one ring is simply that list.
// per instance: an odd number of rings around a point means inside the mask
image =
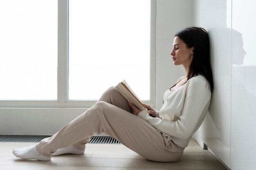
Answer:
[{"label": "whole white-framed window with both panes, behind the woman's knees", "polygon": [[155,0],[0,3],[0,107],[87,108],[123,79],[154,106]]}]

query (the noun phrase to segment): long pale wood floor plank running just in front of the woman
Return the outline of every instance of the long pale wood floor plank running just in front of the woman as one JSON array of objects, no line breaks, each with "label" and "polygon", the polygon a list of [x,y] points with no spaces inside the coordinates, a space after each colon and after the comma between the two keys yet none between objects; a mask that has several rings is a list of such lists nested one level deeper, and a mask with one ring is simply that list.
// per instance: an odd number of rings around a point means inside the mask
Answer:
[{"label": "long pale wood floor plank running just in front of the woman", "polygon": [[16,166],[83,166],[83,167],[124,167],[124,168],[168,168],[168,169],[209,169],[225,170],[219,161],[180,160],[177,162],[159,163],[146,159],[123,158],[81,158],[54,157],[51,161],[22,160],[16,157],[0,157],[0,165]]}]

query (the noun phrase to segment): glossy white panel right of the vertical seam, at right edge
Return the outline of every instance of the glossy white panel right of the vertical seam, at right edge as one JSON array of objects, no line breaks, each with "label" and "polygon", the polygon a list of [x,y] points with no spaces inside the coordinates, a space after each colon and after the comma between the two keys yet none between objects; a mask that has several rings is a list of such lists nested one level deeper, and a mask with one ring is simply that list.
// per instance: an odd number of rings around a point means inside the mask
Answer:
[{"label": "glossy white panel right of the vertical seam, at right edge", "polygon": [[232,0],[231,169],[256,169],[256,2]]}]

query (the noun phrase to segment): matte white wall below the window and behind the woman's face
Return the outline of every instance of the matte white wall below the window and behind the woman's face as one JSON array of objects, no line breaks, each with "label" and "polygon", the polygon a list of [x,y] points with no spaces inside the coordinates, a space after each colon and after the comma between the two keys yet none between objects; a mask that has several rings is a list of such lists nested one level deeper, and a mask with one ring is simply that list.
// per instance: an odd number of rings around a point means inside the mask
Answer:
[{"label": "matte white wall below the window and behind the woman's face", "polygon": [[[173,66],[170,53],[174,34],[193,23],[192,12],[191,1],[157,0],[158,110],[162,106],[164,91],[184,75],[182,66]],[[86,108],[0,108],[0,134],[53,135],[85,110]]]}]

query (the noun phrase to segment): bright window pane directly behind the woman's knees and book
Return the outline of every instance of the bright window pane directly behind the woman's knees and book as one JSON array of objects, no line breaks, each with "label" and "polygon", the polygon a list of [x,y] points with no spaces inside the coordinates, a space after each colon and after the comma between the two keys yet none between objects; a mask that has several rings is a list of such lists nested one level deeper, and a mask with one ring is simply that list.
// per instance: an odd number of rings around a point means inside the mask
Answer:
[{"label": "bright window pane directly behind the woman's knees and book", "polygon": [[99,99],[126,79],[149,100],[150,0],[69,1],[69,99]]}]

